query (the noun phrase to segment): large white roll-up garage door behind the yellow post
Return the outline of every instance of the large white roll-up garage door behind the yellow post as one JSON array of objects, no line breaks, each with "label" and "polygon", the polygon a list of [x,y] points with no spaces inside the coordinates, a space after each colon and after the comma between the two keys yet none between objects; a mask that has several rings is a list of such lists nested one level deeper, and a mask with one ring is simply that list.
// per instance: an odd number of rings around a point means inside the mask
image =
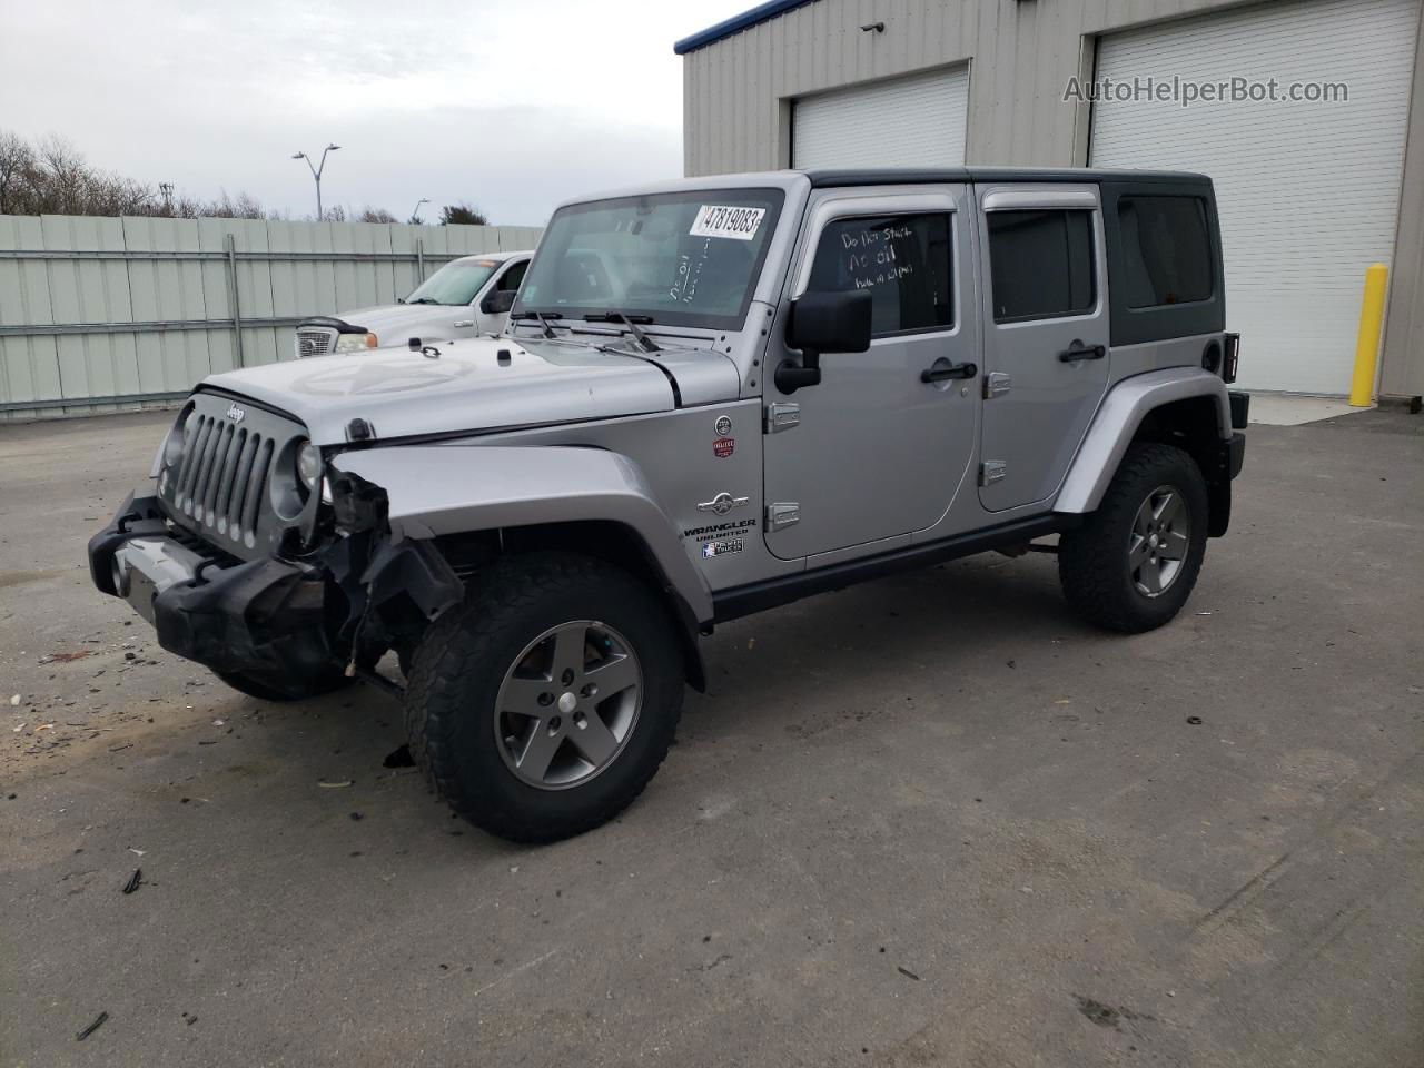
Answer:
[{"label": "large white roll-up garage door behind the yellow post", "polygon": [[[1101,38],[1098,80],[1343,83],[1341,101],[1099,100],[1095,167],[1216,182],[1247,389],[1347,393],[1366,268],[1394,252],[1420,0],[1270,4]],[[1302,90],[1304,91],[1304,90]]]}]

